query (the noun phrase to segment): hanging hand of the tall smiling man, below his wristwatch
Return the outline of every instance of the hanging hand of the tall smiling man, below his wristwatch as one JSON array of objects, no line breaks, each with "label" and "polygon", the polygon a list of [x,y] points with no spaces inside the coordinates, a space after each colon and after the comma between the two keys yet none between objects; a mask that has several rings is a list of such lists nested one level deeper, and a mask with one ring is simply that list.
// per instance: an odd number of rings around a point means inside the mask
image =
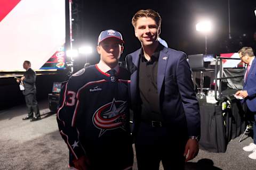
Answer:
[{"label": "hanging hand of the tall smiling man, below his wristwatch", "polygon": [[184,152],[184,156],[186,156],[185,162],[195,158],[198,154],[198,151],[198,141],[195,139],[188,139]]}]

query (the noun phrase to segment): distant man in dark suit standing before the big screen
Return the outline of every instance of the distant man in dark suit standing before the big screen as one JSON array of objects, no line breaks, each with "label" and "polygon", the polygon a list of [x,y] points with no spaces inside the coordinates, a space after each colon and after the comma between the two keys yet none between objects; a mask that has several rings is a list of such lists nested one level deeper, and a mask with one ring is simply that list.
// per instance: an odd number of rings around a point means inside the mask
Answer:
[{"label": "distant man in dark suit standing before the big screen", "polygon": [[[24,84],[25,90],[23,90],[23,95],[25,96],[25,101],[28,107],[28,116],[23,117],[22,120],[37,121],[41,119],[38,104],[36,101],[36,72],[31,69],[31,64],[29,61],[23,63],[23,68],[26,70],[24,75],[17,82],[20,81]],[[35,112],[35,117],[33,113]]]}]

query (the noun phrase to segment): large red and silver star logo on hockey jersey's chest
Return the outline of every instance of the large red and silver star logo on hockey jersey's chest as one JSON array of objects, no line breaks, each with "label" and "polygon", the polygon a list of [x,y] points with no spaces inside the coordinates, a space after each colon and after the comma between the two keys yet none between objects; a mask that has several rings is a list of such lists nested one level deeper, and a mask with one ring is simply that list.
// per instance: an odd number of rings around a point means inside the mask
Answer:
[{"label": "large red and silver star logo on hockey jersey's chest", "polygon": [[96,128],[100,129],[99,137],[108,130],[121,128],[125,131],[126,108],[126,101],[116,101],[114,98],[112,102],[97,109],[93,114],[92,122]]}]

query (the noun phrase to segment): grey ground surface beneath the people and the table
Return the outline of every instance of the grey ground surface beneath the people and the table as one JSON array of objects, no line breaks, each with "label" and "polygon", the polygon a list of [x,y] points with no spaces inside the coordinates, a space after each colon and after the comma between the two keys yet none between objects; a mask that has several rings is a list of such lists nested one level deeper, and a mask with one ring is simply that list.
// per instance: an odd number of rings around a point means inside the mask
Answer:
[{"label": "grey ground surface beneath the people and the table", "polygon": [[[26,116],[25,105],[0,111],[0,170],[68,169],[66,143],[60,137],[56,114],[47,107],[47,101],[39,102],[42,120],[37,122],[21,120]],[[256,169],[256,160],[242,150],[252,138],[241,143],[238,140],[230,141],[225,153],[200,150],[193,161],[186,163],[186,169]],[[133,169],[137,169],[136,160]]]}]

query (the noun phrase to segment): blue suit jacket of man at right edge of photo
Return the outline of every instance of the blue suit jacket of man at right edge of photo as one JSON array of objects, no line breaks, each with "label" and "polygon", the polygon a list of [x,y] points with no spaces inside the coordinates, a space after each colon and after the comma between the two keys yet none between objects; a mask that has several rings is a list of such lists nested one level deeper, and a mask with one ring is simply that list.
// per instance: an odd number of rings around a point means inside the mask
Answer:
[{"label": "blue suit jacket of man at right edge of photo", "polygon": [[250,111],[256,112],[256,60],[252,61],[247,79],[244,82],[244,90],[248,96],[245,98],[246,104]]}]

